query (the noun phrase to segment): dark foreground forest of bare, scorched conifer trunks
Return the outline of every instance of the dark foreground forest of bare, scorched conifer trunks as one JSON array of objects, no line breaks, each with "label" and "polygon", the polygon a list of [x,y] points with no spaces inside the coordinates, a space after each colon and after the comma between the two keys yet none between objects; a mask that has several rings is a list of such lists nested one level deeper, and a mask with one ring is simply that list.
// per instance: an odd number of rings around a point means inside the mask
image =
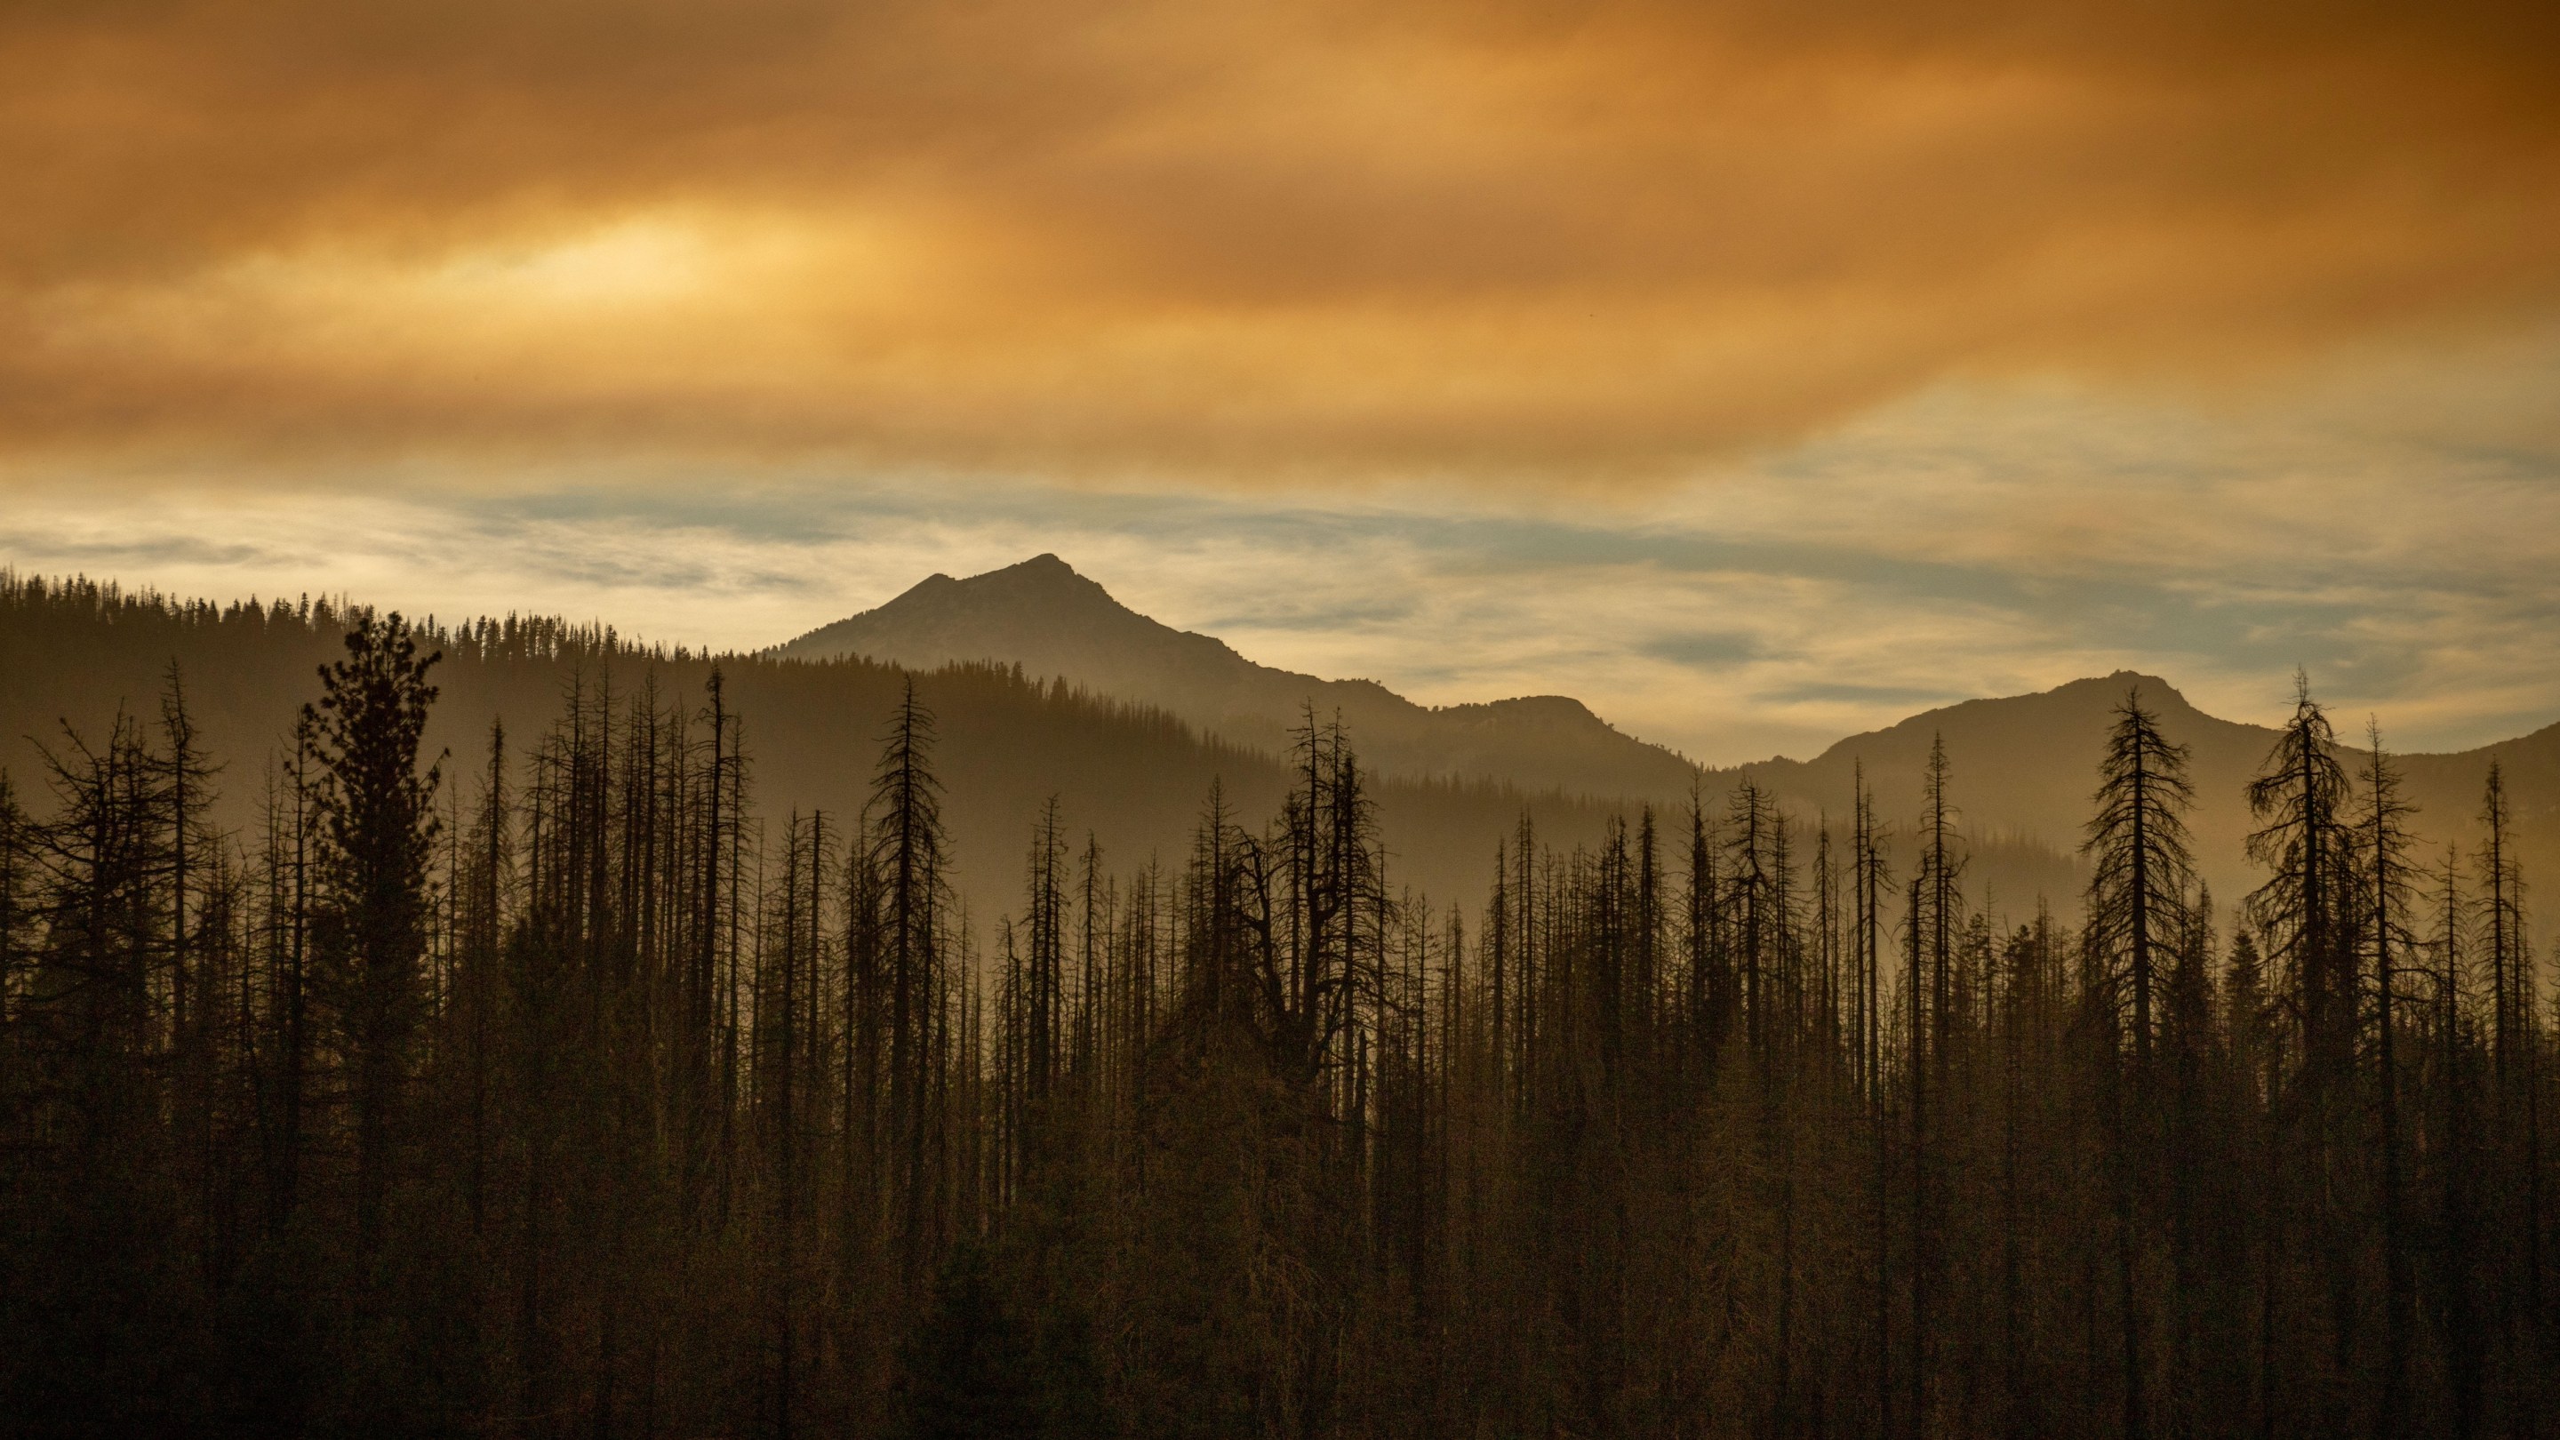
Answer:
[{"label": "dark foreground forest of bare, scorched conifer trunks", "polygon": [[2501,776],[2435,851],[2309,694],[2232,910],[2127,694],[2061,910],[1979,902],[1943,756],[1523,817],[1441,910],[1308,715],[1267,812],[1039,807],[973,915],[914,684],[776,815],[717,669],[438,758],[353,623],[256,774],[172,669],[0,789],[23,1430],[2552,1430]]}]

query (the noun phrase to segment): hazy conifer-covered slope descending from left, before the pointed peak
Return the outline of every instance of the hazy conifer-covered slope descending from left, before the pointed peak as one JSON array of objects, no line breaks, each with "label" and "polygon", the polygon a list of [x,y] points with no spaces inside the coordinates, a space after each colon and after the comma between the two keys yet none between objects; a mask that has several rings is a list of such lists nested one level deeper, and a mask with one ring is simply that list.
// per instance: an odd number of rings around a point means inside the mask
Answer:
[{"label": "hazy conifer-covered slope descending from left, before the pointed peak", "polygon": [[[197,743],[223,769],[215,822],[256,835],[266,784],[289,753],[294,712],[317,700],[317,669],[340,656],[346,615],[328,602],[259,607],[177,602],[90,582],[49,584],[0,571],[0,784],[38,815],[51,810],[46,753],[102,746],[118,717],[154,730],[172,666],[184,682]],[[942,817],[955,879],[980,922],[1019,907],[1032,822],[1057,799],[1065,830],[1091,833],[1108,869],[1149,856],[1178,874],[1211,787],[1234,817],[1262,825],[1288,792],[1288,766],[1201,735],[1183,720],[1111,697],[1075,694],[983,664],[906,671],[888,664],[778,661],[666,653],[556,620],[443,630],[433,671],[425,753],[443,753],[445,799],[479,794],[492,723],[525,784],[525,756],[571,694],[609,694],[614,710],[648,689],[660,707],[696,712],[717,664],[727,707],[745,730],[753,805],[771,825],[822,810],[829,825],[860,815],[878,761],[878,730],[914,679],[934,710]],[[1390,884],[1436,899],[1475,894],[1495,840],[1533,810],[1539,833],[1572,848],[1600,838],[1600,805],[1492,781],[1382,779],[1372,787],[1380,838],[1395,856]]]}]

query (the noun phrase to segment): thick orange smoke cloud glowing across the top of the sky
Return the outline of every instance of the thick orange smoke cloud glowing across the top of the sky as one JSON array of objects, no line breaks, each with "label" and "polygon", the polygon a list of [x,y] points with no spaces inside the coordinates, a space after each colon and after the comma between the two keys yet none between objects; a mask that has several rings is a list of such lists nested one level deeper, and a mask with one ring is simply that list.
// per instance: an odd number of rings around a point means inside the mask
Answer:
[{"label": "thick orange smoke cloud glowing across the top of the sky", "polygon": [[2545,315],[2560,20],[20,5],[0,177],[13,456],[1572,489]]}]

